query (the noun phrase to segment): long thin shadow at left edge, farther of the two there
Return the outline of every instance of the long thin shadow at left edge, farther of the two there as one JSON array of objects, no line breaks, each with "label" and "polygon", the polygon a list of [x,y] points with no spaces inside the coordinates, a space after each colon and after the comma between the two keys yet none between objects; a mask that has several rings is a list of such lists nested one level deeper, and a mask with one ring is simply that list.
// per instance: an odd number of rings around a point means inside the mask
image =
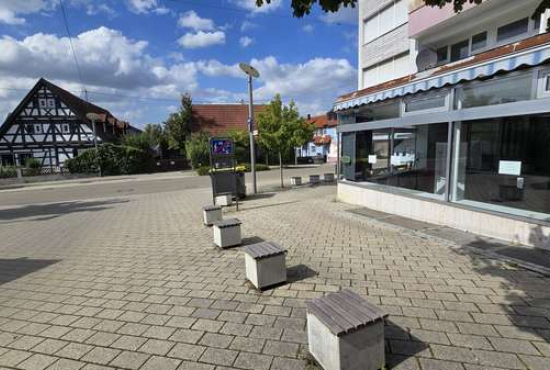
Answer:
[{"label": "long thin shadow at left edge, farther of the two there", "polygon": [[[128,200],[101,200],[89,202],[63,202],[53,204],[33,204],[0,211],[0,221],[14,221],[21,218],[29,221],[46,221],[59,216],[79,212],[97,212],[112,208],[115,204],[127,203]],[[2,222],[0,222],[1,224]]]}]

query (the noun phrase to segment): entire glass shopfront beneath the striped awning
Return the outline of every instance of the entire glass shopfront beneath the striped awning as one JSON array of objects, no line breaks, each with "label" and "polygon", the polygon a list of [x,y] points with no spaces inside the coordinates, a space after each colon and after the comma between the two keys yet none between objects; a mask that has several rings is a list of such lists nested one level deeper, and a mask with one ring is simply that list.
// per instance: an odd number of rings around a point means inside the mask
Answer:
[{"label": "entire glass shopfront beneath the striped awning", "polygon": [[[548,76],[534,69],[363,106],[348,120],[361,128],[342,133],[343,178],[550,221]],[[549,113],[522,114],[521,104],[535,100]],[[480,119],[482,106],[494,107],[494,118]],[[449,120],[422,124],[433,114]]]}]

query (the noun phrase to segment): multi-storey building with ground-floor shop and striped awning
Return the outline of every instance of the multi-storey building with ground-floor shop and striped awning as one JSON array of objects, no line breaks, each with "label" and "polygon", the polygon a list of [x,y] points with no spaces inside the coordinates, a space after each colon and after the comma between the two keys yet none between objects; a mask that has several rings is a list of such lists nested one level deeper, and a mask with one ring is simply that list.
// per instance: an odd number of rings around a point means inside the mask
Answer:
[{"label": "multi-storey building with ground-floor shop and striped awning", "polygon": [[550,248],[550,12],[359,0],[341,200]]}]

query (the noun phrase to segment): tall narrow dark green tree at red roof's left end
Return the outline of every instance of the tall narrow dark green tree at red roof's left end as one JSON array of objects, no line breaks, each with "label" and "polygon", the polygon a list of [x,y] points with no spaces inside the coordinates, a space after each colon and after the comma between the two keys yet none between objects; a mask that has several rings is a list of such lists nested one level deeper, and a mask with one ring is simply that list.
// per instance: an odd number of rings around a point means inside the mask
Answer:
[{"label": "tall narrow dark green tree at red roof's left end", "polygon": [[168,120],[164,122],[171,148],[178,149],[182,154],[185,154],[185,142],[193,131],[193,124],[193,100],[191,95],[184,94],[181,97],[179,111],[172,113]]}]

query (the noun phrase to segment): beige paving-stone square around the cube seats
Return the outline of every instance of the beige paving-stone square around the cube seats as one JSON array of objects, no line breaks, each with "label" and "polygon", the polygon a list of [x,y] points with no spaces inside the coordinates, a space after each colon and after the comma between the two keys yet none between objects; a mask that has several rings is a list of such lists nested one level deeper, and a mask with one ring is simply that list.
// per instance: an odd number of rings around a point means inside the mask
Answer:
[{"label": "beige paving-stone square around the cube seats", "polygon": [[304,302],[350,288],[390,313],[388,368],[550,369],[550,279],[334,194],[241,205],[245,243],[289,250],[290,283],[261,293],[241,248],[215,248],[202,226],[206,189],[0,212],[0,368],[315,369]]}]

